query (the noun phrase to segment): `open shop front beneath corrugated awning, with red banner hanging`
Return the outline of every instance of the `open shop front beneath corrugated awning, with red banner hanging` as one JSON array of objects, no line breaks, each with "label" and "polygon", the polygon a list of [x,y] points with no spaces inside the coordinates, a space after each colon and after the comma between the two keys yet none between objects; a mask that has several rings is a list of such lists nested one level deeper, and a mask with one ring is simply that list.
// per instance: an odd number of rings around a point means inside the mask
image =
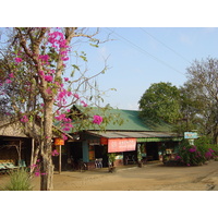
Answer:
[{"label": "open shop front beneath corrugated awning, with red banner hanging", "polygon": [[166,148],[174,150],[181,140],[166,133],[109,131],[88,131],[83,138],[83,161],[88,169],[108,167],[109,154],[116,154],[114,166],[162,160]]}]

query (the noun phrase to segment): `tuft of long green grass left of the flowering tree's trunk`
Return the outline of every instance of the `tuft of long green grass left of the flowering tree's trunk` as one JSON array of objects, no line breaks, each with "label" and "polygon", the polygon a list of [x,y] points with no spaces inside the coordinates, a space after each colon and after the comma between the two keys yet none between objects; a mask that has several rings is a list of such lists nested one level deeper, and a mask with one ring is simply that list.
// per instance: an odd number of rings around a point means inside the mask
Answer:
[{"label": "tuft of long green grass left of the flowering tree's trunk", "polygon": [[31,178],[27,170],[21,168],[10,172],[10,182],[3,191],[33,191]]}]

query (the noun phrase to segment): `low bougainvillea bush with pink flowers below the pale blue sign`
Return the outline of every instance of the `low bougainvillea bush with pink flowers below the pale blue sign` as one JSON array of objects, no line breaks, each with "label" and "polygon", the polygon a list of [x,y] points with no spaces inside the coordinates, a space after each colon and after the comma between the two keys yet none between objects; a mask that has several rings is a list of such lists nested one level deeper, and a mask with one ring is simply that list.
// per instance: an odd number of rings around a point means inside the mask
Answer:
[{"label": "low bougainvillea bush with pink flowers below the pale blue sign", "polygon": [[198,166],[216,158],[217,155],[218,148],[216,145],[203,142],[191,145],[187,140],[184,140],[179,147],[175,160],[183,166]]}]

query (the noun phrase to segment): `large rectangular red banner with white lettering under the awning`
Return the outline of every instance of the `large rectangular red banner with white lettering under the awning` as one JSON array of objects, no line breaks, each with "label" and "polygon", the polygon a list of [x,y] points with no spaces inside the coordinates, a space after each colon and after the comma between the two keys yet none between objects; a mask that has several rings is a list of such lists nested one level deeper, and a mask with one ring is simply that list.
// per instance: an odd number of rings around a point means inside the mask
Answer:
[{"label": "large rectangular red banner with white lettering under the awning", "polygon": [[110,138],[108,140],[108,153],[122,153],[135,150],[136,138]]}]

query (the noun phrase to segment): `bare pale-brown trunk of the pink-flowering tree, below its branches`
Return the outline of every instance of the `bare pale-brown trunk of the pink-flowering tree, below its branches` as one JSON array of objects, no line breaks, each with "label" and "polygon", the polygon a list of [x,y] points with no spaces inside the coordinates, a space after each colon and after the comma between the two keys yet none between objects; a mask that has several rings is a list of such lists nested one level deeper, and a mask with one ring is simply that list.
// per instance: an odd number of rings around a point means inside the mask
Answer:
[{"label": "bare pale-brown trunk of the pink-flowering tree, below its branches", "polygon": [[52,147],[52,100],[45,100],[44,108],[44,136],[41,142],[41,175],[40,190],[51,191],[53,189],[53,164],[51,156]]}]

